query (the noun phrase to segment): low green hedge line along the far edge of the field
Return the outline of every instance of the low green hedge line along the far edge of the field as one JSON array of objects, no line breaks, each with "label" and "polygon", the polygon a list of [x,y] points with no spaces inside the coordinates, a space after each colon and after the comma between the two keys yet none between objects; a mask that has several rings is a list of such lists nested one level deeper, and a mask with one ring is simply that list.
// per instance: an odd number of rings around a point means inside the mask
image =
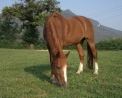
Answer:
[{"label": "low green hedge line along the far edge of the field", "polygon": [[[95,44],[97,50],[122,50],[122,38],[102,40]],[[87,43],[84,42],[82,45],[83,49],[87,49]],[[20,42],[11,42],[8,40],[0,40],[0,48],[10,48],[10,49],[30,49],[33,47],[28,46],[28,44],[22,44]],[[43,39],[40,40],[40,43],[35,45],[34,49],[47,49],[46,43]],[[76,45],[67,46],[63,49],[75,50]]]}]

